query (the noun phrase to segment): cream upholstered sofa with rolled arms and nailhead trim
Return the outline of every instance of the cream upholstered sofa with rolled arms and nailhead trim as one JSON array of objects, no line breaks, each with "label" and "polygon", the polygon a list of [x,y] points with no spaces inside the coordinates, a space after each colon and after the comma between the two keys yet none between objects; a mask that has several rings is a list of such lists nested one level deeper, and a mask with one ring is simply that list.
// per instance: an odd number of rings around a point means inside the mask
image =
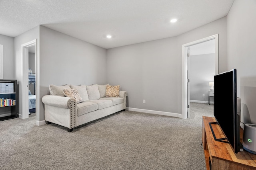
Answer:
[{"label": "cream upholstered sofa with rolled arms and nailhead trim", "polygon": [[[119,97],[105,97],[106,85],[51,84],[50,95],[42,97],[46,124],[55,123],[71,132],[74,127],[126,109],[126,91],[120,90]],[[77,103],[75,98],[66,97],[63,89],[76,89],[83,102]]]}]

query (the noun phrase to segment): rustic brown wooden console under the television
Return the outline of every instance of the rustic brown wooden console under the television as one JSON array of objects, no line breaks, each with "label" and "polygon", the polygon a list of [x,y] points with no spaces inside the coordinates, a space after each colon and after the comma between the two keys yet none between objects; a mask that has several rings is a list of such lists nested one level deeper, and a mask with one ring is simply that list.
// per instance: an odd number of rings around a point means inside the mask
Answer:
[{"label": "rustic brown wooden console under the television", "polygon": [[[256,170],[256,155],[247,151],[234,153],[229,143],[215,141],[209,122],[214,117],[203,116],[202,140],[207,170]],[[219,125],[212,125],[216,138],[224,138]],[[243,137],[241,128],[240,141]],[[209,161],[210,160],[210,161]]]}]

